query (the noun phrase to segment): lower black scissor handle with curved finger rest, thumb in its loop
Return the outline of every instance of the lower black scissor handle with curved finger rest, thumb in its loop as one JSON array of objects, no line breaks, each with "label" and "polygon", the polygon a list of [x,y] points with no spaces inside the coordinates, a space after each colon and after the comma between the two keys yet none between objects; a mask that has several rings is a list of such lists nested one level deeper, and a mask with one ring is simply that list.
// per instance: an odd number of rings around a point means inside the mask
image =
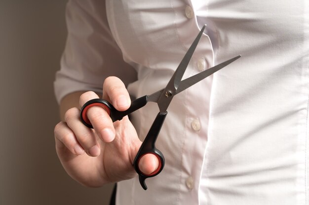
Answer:
[{"label": "lower black scissor handle with curved finger rest, thumb in its loop", "polygon": [[[144,142],[142,143],[135,159],[133,162],[133,166],[137,174],[139,175],[139,181],[141,186],[143,187],[144,190],[147,189],[147,185],[145,183],[146,178],[149,177],[154,177],[160,174],[160,172],[163,170],[165,160],[162,152],[155,148],[155,141],[157,139],[157,136],[161,130],[161,127],[163,125],[164,119],[167,115],[167,112],[164,113],[158,113],[157,116],[154,119],[154,123],[152,124]],[[151,174],[144,174],[143,172],[140,171],[138,164],[140,159],[145,155],[145,154],[154,154],[158,160],[159,160],[159,166],[158,168]]]}]

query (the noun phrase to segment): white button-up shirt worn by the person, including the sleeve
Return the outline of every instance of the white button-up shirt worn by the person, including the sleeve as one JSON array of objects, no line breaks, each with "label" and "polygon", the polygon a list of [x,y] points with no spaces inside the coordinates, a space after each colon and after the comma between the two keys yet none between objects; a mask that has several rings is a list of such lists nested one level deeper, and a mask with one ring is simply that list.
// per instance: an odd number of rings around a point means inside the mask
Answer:
[{"label": "white button-up shirt worn by the person, including the sleeve", "polygon": [[[242,55],[174,97],[156,143],[163,171],[147,191],[119,182],[117,205],[309,204],[308,0],[80,0],[67,23],[58,101],[109,75],[135,97],[164,88],[204,24],[184,78]],[[141,140],[157,112],[134,113]]]}]

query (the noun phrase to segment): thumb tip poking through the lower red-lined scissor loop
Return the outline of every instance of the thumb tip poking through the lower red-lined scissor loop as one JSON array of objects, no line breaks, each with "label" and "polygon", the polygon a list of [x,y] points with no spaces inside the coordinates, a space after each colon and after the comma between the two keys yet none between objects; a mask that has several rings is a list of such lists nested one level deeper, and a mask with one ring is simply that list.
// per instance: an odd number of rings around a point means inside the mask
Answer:
[{"label": "thumb tip poking through the lower red-lined scissor loop", "polygon": [[145,154],[141,157],[138,168],[140,171],[146,175],[152,174],[158,169],[159,161],[154,154]]}]

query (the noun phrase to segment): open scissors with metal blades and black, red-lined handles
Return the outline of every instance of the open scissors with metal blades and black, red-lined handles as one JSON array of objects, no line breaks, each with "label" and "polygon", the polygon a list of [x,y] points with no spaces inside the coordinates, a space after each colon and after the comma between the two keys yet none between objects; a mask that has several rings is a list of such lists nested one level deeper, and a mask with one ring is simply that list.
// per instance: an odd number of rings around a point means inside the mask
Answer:
[{"label": "open scissors with metal blades and black, red-lined handles", "polygon": [[[181,91],[187,88],[190,88],[195,83],[203,80],[204,78],[212,75],[213,73],[220,70],[221,68],[232,63],[234,60],[240,58],[240,56],[237,56],[223,63],[220,63],[212,68],[202,71],[192,77],[189,77],[185,80],[181,80],[187,69],[190,59],[193,56],[194,50],[198,44],[200,37],[202,36],[204,29],[205,29],[205,26],[200,30],[200,32],[196,36],[195,40],[193,41],[193,44],[190,46],[189,50],[187,51],[186,55],[180,62],[179,66],[177,67],[176,71],[174,72],[173,76],[171,77],[170,81],[168,82],[165,88],[160,89],[151,95],[145,95],[145,96],[142,96],[132,101],[131,106],[126,111],[117,111],[110,102],[104,99],[89,100],[81,108],[81,111],[80,111],[81,121],[87,127],[93,128],[91,125],[91,122],[86,116],[87,110],[92,106],[103,107],[107,111],[109,116],[112,118],[113,122],[115,122],[116,120],[121,120],[122,117],[127,116],[130,113],[133,113],[134,111],[144,107],[148,102],[157,103],[159,107],[159,113],[155,117],[154,122],[133,162],[134,169],[139,175],[139,181],[144,190],[147,189],[145,180],[149,177],[154,177],[158,175],[163,170],[163,167],[164,167],[164,156],[162,152],[155,147],[155,141],[159,135],[160,129],[167,115],[167,108],[169,104],[171,103],[173,97],[176,94],[180,93]],[[158,158],[159,165],[158,165],[158,168],[153,173],[145,174],[139,170],[138,163],[142,156],[144,156],[145,154],[149,154],[149,153],[154,154]]]}]

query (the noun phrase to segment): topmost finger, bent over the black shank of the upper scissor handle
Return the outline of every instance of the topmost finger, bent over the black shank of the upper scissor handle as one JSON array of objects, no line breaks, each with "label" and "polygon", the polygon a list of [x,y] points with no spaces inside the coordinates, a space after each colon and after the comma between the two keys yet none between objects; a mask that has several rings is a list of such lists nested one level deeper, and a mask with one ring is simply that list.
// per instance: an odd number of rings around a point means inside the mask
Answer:
[{"label": "topmost finger, bent over the black shank of the upper scissor handle", "polygon": [[108,77],[103,84],[103,99],[110,101],[118,111],[130,107],[130,95],[122,81],[117,77]]}]

